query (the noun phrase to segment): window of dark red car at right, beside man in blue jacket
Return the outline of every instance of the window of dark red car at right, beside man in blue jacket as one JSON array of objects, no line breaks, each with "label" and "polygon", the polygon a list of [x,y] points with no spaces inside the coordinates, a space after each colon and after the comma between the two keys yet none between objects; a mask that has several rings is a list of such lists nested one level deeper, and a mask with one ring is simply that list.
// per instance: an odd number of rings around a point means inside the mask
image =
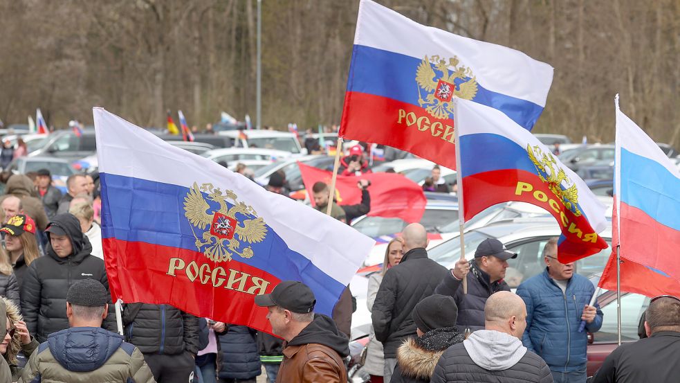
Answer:
[{"label": "window of dark red car at right, beside man in blue jacket", "polygon": [[[642,313],[650,305],[650,299],[640,294],[625,294],[621,297],[621,340],[636,341],[638,325]],[[601,308],[604,314],[602,327],[595,333],[594,343],[614,343],[618,341],[616,299]]]}]

